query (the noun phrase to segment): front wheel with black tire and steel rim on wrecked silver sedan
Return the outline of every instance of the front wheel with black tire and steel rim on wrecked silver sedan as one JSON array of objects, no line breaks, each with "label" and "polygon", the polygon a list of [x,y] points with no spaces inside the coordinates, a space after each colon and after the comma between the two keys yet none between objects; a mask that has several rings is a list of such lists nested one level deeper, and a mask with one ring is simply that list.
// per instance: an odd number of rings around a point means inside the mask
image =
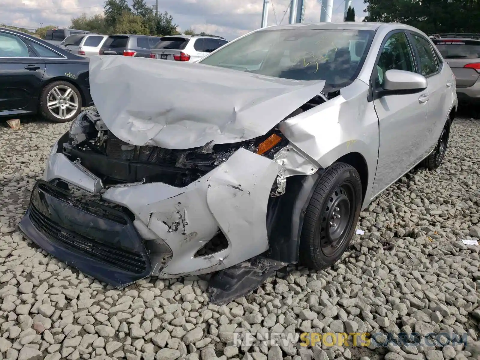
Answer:
[{"label": "front wheel with black tire and steel rim on wrecked silver sedan", "polygon": [[319,180],[305,212],[300,263],[316,270],[334,265],[343,255],[360,216],[362,187],[352,166],[336,163]]}]

